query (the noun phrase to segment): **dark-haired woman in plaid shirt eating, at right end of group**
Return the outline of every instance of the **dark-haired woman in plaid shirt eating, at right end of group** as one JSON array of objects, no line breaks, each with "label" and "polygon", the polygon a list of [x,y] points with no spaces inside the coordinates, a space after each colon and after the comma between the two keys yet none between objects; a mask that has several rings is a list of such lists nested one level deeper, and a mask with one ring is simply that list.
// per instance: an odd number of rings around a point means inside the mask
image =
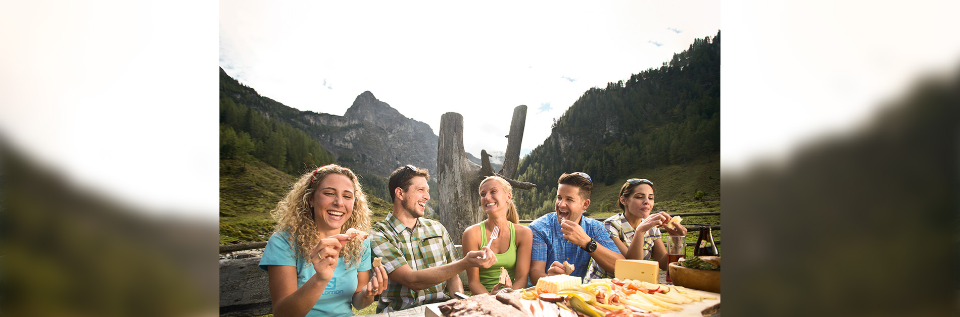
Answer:
[{"label": "dark-haired woman in plaid shirt eating, at right end of group", "polygon": [[[670,222],[672,216],[664,212],[650,215],[654,209],[654,183],[641,178],[631,178],[620,188],[617,201],[623,213],[612,215],[604,220],[604,227],[610,232],[610,238],[620,249],[620,253],[630,260],[657,260],[661,269],[667,269],[666,247],[660,239],[658,226]],[[663,228],[671,236],[686,236],[684,226],[676,229]],[[640,232],[642,235],[635,235]],[[613,272],[607,272],[596,262],[590,267],[593,279],[612,278]]]}]

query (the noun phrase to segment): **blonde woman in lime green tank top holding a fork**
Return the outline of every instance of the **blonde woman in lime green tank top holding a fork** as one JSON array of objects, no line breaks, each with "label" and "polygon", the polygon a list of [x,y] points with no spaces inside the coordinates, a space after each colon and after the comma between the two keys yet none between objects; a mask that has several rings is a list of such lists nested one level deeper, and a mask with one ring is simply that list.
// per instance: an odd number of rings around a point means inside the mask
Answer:
[{"label": "blonde woman in lime green tank top holding a fork", "polygon": [[502,177],[490,176],[480,182],[479,192],[480,206],[487,219],[464,231],[464,253],[486,246],[494,227],[500,227],[500,232],[490,245],[496,254],[496,263],[490,268],[467,269],[470,292],[477,295],[499,290],[500,287],[494,289],[494,286],[500,281],[500,267],[507,269],[513,288],[526,287],[534,236],[530,228],[519,224],[513,187]]}]

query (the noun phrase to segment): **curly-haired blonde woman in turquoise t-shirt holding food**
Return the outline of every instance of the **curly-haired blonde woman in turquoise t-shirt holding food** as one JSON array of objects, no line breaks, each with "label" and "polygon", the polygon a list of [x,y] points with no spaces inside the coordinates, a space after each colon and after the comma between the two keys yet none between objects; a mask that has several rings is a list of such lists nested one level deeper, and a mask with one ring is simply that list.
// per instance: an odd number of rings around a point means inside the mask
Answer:
[{"label": "curly-haired blonde woman in turquoise t-shirt holding food", "polygon": [[387,272],[371,278],[370,242],[346,234],[369,231],[370,214],[353,171],[331,164],[300,176],[271,211],[275,233],[260,260],[275,316],[352,316],[351,305],[373,303]]}]

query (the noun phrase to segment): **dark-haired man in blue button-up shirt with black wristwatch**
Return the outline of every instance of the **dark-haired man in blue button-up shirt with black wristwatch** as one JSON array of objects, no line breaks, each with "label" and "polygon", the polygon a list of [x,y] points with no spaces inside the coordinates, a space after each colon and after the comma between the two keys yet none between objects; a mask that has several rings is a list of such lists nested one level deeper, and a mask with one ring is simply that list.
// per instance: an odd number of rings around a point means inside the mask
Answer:
[{"label": "dark-haired man in blue button-up shirt with black wristwatch", "polygon": [[623,255],[602,222],[583,216],[593,191],[590,176],[580,171],[564,173],[558,183],[556,212],[530,223],[534,234],[530,282],[537,284],[542,277],[564,274],[564,260],[574,265],[570,275],[580,278],[587,275],[590,258],[613,272],[616,260],[623,260]]}]

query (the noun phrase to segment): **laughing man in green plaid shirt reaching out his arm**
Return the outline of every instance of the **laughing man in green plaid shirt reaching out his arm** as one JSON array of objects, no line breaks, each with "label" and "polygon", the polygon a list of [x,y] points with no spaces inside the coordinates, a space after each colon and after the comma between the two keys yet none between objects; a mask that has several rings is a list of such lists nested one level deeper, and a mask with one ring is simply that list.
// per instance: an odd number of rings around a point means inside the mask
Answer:
[{"label": "laughing man in green plaid shirt reaching out his arm", "polygon": [[372,257],[383,258],[390,277],[377,302],[377,313],[449,300],[449,294],[464,291],[460,272],[469,267],[489,268],[496,262],[490,247],[454,260],[453,241],[444,225],[422,217],[430,200],[429,178],[427,170],[412,165],[390,175],[394,212],[373,224],[370,243]]}]

